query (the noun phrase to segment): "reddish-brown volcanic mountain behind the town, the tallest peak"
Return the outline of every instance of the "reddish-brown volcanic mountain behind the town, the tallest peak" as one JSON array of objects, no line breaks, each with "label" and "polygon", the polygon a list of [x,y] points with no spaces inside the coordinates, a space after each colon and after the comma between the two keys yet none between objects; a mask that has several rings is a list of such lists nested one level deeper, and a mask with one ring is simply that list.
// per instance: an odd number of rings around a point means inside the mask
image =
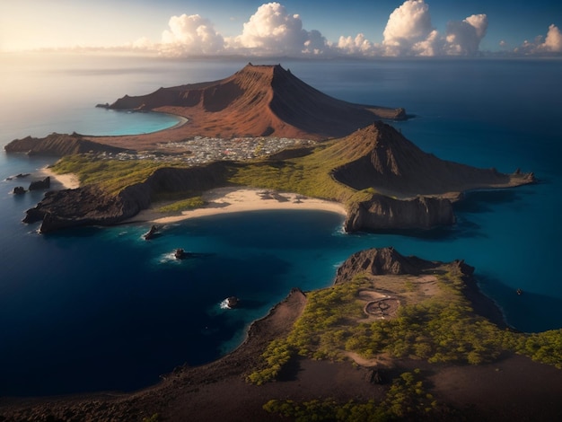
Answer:
[{"label": "reddish-brown volcanic mountain behind the town, the tallest peak", "polygon": [[165,135],[163,138],[150,134],[96,139],[128,148],[187,136],[324,139],[346,136],[377,119],[406,117],[403,109],[365,106],[329,97],[279,65],[248,65],[220,81],[160,88],[138,97],[125,96],[110,108],[162,111],[189,119],[182,127],[161,133]]}]

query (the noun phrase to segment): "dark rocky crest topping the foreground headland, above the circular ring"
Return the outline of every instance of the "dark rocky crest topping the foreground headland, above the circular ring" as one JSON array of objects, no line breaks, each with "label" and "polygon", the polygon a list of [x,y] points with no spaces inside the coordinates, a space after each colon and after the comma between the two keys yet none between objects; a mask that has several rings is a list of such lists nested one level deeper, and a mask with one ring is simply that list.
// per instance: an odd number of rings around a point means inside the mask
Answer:
[{"label": "dark rocky crest topping the foreground headland, above the circular ring", "polygon": [[358,251],[351,255],[338,268],[335,284],[350,281],[359,274],[367,273],[373,276],[382,275],[419,275],[428,268],[435,268],[441,263],[428,261],[417,257],[405,257],[394,248],[373,248]]}]

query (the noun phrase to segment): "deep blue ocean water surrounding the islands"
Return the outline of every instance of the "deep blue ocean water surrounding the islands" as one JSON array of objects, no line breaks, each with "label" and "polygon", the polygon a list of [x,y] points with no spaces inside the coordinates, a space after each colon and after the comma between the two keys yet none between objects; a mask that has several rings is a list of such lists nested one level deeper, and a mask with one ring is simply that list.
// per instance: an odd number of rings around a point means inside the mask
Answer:
[{"label": "deep blue ocean water surrounding the islands", "polygon": [[[131,391],[187,363],[237,347],[251,321],[292,287],[329,286],[355,251],[394,246],[404,255],[476,267],[481,289],[514,328],[562,327],[558,269],[562,224],[561,60],[275,60],[315,88],[354,102],[404,107],[395,123],[441,158],[539,183],[470,193],[451,228],[401,234],[342,233],[340,215],[251,212],[163,227],[83,228],[49,235],[22,224],[42,192],[13,196],[52,158],[0,153],[0,396]],[[177,120],[94,108],[128,93],[221,79],[244,60],[0,56],[0,145],[51,132],[142,133]],[[198,257],[180,262],[171,251]],[[522,288],[523,295],[515,289]],[[221,307],[236,295],[241,307]]]}]

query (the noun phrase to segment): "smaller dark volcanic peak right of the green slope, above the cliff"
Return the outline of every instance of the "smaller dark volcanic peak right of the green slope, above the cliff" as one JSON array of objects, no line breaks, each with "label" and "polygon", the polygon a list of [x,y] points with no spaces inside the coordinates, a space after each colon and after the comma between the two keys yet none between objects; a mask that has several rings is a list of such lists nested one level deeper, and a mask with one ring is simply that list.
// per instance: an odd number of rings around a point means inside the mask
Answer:
[{"label": "smaller dark volcanic peak right of the green slope, above the cliff", "polygon": [[521,184],[524,174],[504,174],[453,163],[428,154],[410,142],[399,130],[382,122],[363,127],[346,136],[324,154],[345,157],[345,164],[332,171],[335,180],[361,190],[400,196],[443,195],[469,189]]}]

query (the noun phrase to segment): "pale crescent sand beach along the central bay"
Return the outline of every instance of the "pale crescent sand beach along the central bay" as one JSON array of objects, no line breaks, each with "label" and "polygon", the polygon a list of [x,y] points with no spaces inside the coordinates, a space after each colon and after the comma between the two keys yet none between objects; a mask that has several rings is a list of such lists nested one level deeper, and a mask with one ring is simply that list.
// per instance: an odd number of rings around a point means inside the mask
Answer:
[{"label": "pale crescent sand beach along the central bay", "polygon": [[151,221],[155,224],[168,224],[206,215],[274,209],[323,210],[346,215],[346,209],[338,202],[266,189],[212,189],[203,194],[203,200],[206,202],[204,207],[183,211],[181,215],[162,215],[154,209],[147,209],[141,211],[129,221]]}]

